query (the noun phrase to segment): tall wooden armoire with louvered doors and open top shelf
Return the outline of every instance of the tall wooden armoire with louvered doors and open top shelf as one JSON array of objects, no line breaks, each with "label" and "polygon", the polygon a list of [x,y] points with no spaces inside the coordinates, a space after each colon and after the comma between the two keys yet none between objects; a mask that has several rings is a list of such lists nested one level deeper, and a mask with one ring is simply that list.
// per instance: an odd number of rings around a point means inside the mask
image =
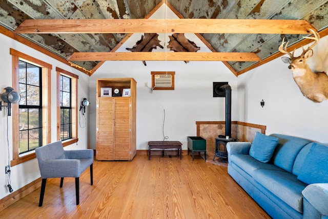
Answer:
[{"label": "tall wooden armoire with louvered doors and open top shelf", "polygon": [[136,155],[136,81],[97,79],[96,95],[96,159],[132,160]]}]

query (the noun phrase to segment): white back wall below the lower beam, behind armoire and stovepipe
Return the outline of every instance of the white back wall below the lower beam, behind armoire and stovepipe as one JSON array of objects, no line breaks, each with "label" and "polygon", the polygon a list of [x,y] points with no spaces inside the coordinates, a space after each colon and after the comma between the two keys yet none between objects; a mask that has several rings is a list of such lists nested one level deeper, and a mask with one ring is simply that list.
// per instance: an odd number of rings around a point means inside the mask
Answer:
[{"label": "white back wall below the lower beam, behind armoire and stovepipe", "polygon": [[[153,91],[151,71],[175,71],[174,91]],[[232,120],[237,120],[237,78],[221,62],[141,61],[106,62],[90,77],[90,98],[95,103],[96,78],[132,77],[137,81],[137,149],[148,149],[148,141],[181,141],[196,135],[196,121],[224,121],[225,99],[213,98],[213,82],[228,81],[232,87]],[[93,100],[92,100],[93,99]],[[90,109],[90,145],[95,149],[96,107]]]}]

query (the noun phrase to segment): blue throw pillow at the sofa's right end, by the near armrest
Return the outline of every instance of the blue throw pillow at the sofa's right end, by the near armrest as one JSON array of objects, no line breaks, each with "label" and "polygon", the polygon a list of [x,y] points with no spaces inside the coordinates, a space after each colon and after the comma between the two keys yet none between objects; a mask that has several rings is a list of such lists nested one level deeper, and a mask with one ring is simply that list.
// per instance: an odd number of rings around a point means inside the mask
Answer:
[{"label": "blue throw pillow at the sofa's right end, by the near armrest", "polygon": [[306,183],[328,183],[328,147],[314,143],[306,155],[298,180]]}]

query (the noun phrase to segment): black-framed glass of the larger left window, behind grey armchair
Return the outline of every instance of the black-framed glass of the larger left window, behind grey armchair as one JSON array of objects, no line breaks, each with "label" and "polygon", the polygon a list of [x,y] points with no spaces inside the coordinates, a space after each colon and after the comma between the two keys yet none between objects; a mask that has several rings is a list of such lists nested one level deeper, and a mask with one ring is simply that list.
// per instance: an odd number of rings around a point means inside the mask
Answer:
[{"label": "black-framed glass of the larger left window, behind grey armchair", "polygon": [[19,60],[19,154],[42,146],[42,68]]}]

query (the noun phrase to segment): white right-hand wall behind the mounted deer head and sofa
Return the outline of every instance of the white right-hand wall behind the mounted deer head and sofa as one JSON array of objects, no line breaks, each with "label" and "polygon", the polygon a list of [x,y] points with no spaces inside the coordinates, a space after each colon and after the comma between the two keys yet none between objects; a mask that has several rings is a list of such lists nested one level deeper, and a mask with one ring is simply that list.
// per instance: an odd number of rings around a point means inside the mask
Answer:
[{"label": "white right-hand wall behind the mounted deer head and sofa", "polygon": [[[326,48],[328,37],[323,37],[307,62],[313,71],[328,71]],[[300,53],[301,50],[297,50],[295,55]],[[260,106],[262,99],[265,102],[263,108]],[[239,121],[266,125],[267,134],[280,133],[328,142],[328,100],[314,103],[305,98],[281,57],[238,77],[238,102]]]}]

